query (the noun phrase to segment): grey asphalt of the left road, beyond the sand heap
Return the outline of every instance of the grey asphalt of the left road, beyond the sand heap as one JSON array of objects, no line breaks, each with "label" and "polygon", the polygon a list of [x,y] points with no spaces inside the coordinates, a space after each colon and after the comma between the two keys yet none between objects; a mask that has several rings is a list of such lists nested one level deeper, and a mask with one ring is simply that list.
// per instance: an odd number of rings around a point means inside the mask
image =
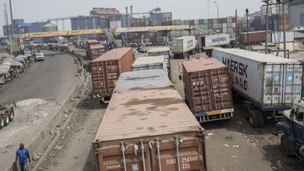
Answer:
[{"label": "grey asphalt of the left road, beyond the sand heap", "polygon": [[0,88],[0,103],[34,98],[62,102],[75,83],[76,68],[68,54],[46,56],[44,61],[34,63],[21,77]]}]

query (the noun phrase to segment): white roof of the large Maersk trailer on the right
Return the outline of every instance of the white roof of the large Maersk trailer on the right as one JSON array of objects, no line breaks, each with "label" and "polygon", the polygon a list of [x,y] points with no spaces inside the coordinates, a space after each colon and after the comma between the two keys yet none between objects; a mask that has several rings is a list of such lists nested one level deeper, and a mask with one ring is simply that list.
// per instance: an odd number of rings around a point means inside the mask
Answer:
[{"label": "white roof of the large Maersk trailer on the right", "polygon": [[300,63],[299,61],[295,61],[288,58],[280,58],[270,54],[258,53],[254,51],[245,51],[243,49],[213,49],[213,51],[229,53],[234,56],[240,56],[242,58],[247,58],[252,61],[258,61],[260,63]]}]

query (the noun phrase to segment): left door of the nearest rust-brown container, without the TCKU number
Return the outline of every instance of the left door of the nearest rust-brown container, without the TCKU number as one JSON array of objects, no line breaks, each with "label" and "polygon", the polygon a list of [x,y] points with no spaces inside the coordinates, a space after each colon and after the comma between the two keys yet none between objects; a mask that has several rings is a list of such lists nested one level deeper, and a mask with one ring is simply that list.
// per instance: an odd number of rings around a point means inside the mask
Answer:
[{"label": "left door of the nearest rust-brown container, without the TCKU number", "polygon": [[144,164],[141,148],[139,146],[127,146],[125,160],[122,156],[120,147],[101,150],[96,154],[99,170],[125,171],[126,165],[127,171],[144,171],[145,165],[146,171],[151,171],[148,151],[148,146],[144,145]]}]

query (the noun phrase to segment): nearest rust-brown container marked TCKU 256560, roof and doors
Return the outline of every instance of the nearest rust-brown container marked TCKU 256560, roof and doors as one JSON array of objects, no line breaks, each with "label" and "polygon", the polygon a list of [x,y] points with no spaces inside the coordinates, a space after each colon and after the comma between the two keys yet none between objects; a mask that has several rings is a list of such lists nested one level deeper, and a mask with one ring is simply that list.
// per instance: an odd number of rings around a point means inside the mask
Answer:
[{"label": "nearest rust-brown container marked TCKU 256560, roof and doors", "polygon": [[159,87],[113,94],[93,147],[98,170],[204,171],[204,137],[178,92]]}]

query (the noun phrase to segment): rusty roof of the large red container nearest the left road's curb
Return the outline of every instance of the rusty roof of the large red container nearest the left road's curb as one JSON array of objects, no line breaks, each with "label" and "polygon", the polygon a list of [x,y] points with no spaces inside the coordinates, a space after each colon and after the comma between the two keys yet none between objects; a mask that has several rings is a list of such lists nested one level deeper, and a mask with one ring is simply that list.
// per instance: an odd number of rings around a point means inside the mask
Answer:
[{"label": "rusty roof of the large red container nearest the left road's curb", "polygon": [[107,53],[104,53],[102,56],[99,56],[98,58],[94,59],[92,62],[117,60],[128,51],[132,51],[132,49],[131,48],[112,49]]}]

